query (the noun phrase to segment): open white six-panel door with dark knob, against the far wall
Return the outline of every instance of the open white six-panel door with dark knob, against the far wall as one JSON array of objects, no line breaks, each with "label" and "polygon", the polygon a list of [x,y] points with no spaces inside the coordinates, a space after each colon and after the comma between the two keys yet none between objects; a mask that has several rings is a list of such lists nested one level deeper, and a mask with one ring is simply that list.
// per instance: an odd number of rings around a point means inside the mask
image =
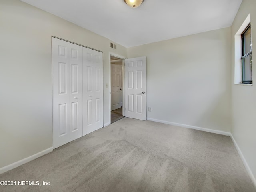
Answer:
[{"label": "open white six-panel door with dark knob, against the far wall", "polygon": [[146,57],[125,60],[125,116],[146,120]]}]

